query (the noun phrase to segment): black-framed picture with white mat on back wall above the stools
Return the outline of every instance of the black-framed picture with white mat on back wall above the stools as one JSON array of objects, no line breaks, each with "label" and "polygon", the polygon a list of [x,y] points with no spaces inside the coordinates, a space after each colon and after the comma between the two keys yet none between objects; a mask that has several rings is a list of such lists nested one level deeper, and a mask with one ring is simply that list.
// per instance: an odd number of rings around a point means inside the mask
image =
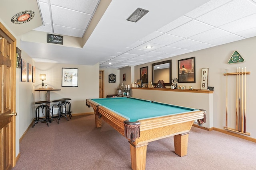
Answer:
[{"label": "black-framed picture with white mat on back wall above the stools", "polygon": [[62,87],[78,87],[78,68],[62,68]]}]

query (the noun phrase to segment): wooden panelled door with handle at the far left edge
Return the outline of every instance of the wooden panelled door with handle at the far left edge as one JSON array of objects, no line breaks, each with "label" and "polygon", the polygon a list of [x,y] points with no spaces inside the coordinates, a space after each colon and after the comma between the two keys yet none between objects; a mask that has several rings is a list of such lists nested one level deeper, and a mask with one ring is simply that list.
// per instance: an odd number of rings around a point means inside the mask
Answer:
[{"label": "wooden panelled door with handle at the far left edge", "polygon": [[0,23],[0,170],[10,170],[15,158],[16,39]]}]

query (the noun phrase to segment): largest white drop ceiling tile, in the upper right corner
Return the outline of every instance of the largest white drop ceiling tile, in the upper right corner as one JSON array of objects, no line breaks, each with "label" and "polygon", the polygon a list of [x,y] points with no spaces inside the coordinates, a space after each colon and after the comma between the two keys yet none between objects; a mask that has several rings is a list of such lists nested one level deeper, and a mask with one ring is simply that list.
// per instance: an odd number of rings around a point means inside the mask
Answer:
[{"label": "largest white drop ceiling tile, in the upper right corner", "polygon": [[255,12],[256,6],[248,0],[233,0],[196,19],[218,27],[225,23],[254,14]]}]

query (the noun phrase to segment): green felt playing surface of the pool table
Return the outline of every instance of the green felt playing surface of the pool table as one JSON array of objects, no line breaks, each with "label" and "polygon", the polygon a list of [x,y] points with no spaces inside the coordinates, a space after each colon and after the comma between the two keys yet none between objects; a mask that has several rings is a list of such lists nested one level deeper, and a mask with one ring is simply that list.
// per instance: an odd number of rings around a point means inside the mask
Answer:
[{"label": "green felt playing surface of the pool table", "polygon": [[106,107],[122,117],[125,117],[128,119],[128,121],[138,121],[142,119],[175,115],[198,110],[189,107],[152,102],[150,100],[142,100],[132,97],[99,98],[92,100],[98,103],[100,106]]}]

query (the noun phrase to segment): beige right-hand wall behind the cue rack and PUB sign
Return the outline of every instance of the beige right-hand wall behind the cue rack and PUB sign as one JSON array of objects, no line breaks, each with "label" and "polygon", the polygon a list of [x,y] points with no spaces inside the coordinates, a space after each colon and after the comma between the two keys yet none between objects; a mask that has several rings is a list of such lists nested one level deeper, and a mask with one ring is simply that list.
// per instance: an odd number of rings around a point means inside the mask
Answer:
[{"label": "beige right-hand wall behind the cue rack and PUB sign", "polygon": [[[226,68],[228,72],[236,72],[236,67],[246,67],[246,71],[251,72],[246,76],[246,131],[250,133],[250,137],[256,138],[256,114],[254,114],[254,98],[256,91],[254,84],[256,84],[254,71],[256,57],[254,56],[254,49],[256,44],[256,37],[219,45],[216,47],[187,53],[175,57],[170,57],[161,61],[172,60],[172,78],[178,78],[178,60],[190,57],[196,57],[196,83],[178,83],[188,86],[193,86],[195,89],[200,89],[201,69],[209,68],[208,72],[208,86],[214,86],[213,94],[213,127],[223,129],[226,123]],[[238,51],[245,60],[244,63],[228,64],[228,60],[234,51]],[[157,63],[152,62],[152,63]],[[140,67],[148,66],[148,80],[152,80],[152,63],[135,66],[134,74],[135,80],[140,78]],[[228,127],[235,129],[236,116],[236,76],[228,76]],[[173,96],[175,98],[175,96]]]}]

